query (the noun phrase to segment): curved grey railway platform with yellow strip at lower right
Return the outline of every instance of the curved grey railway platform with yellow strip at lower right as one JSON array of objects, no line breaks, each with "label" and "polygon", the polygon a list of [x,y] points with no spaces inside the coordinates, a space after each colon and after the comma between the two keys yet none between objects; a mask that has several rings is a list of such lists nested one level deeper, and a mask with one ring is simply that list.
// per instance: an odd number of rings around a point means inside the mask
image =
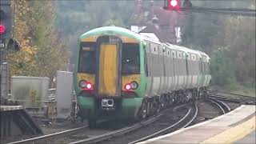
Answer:
[{"label": "curved grey railway platform with yellow strip at lower right", "polygon": [[242,105],[230,113],[139,144],[255,143],[256,106]]}]

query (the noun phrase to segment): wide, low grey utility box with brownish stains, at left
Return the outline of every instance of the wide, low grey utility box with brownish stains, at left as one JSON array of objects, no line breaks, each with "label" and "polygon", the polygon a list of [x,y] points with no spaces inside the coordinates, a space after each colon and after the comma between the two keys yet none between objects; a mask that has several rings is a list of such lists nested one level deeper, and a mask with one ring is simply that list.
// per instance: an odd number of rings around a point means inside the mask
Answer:
[{"label": "wide, low grey utility box with brownish stains, at left", "polygon": [[43,108],[48,98],[49,78],[11,77],[11,99],[27,108]]}]

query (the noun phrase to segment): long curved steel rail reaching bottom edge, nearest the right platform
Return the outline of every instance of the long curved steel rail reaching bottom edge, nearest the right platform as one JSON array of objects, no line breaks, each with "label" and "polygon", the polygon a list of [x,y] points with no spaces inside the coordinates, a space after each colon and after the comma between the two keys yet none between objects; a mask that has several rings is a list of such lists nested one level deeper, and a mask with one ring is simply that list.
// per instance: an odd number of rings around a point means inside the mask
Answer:
[{"label": "long curved steel rail reaching bottom edge, nearest the right platform", "polygon": [[167,134],[168,132],[172,132],[177,129],[185,128],[186,126],[190,126],[192,122],[194,122],[194,119],[198,115],[198,104],[197,102],[194,103],[194,107],[190,107],[190,109],[187,111],[186,115],[180,119],[178,122],[174,123],[174,125],[166,127],[163,130],[160,130],[154,134],[151,134],[149,136],[146,136],[144,138],[140,138],[134,142],[130,142],[129,144],[134,144],[137,142],[142,142],[150,138],[157,137],[159,135]]}]

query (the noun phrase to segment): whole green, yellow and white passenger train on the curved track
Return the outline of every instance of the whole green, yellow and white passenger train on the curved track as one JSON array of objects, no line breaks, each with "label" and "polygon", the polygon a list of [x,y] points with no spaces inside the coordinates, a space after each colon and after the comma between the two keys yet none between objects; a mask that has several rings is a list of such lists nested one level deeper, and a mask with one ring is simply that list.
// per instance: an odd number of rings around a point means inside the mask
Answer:
[{"label": "whole green, yellow and white passenger train on the curved track", "polygon": [[174,103],[207,93],[210,57],[150,34],[118,26],[87,31],[78,38],[74,90],[78,116],[142,120]]}]

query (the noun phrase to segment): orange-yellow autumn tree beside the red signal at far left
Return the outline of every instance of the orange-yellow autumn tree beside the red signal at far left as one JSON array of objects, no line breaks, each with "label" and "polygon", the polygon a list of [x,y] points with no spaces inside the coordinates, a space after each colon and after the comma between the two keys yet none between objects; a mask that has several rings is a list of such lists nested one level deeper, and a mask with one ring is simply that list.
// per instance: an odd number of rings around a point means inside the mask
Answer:
[{"label": "orange-yellow autumn tree beside the red signal at far left", "polygon": [[[21,50],[7,56],[10,63],[10,75],[30,75],[36,70],[37,46],[31,45],[30,26],[26,19],[30,14],[30,4],[26,0],[13,1],[14,38],[20,42]],[[33,74],[32,74],[33,75]]]}]

